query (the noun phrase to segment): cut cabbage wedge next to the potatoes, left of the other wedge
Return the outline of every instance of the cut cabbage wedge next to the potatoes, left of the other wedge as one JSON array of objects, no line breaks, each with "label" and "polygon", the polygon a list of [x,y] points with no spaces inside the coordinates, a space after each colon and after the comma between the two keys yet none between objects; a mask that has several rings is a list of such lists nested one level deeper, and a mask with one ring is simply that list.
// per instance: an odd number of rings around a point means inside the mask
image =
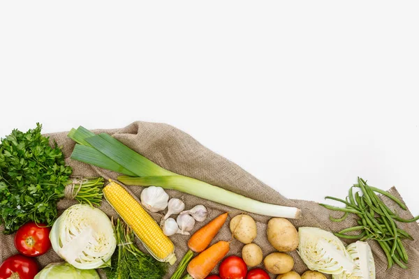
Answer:
[{"label": "cut cabbage wedge next to the potatoes, left of the other wedge", "polygon": [[300,227],[298,237],[300,244],[297,252],[309,269],[328,274],[353,272],[353,259],[344,243],[331,232],[317,227]]}]

